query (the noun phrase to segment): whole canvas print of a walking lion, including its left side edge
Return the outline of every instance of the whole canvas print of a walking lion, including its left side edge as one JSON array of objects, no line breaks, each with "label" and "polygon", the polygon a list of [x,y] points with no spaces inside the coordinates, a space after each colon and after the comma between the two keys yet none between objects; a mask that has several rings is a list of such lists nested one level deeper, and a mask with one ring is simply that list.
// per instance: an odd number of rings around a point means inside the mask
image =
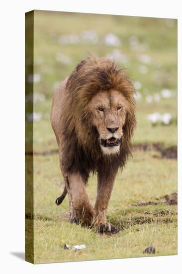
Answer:
[{"label": "whole canvas print of a walking lion, including its left side edge", "polygon": [[177,254],[177,20],[25,14],[25,260]]}]

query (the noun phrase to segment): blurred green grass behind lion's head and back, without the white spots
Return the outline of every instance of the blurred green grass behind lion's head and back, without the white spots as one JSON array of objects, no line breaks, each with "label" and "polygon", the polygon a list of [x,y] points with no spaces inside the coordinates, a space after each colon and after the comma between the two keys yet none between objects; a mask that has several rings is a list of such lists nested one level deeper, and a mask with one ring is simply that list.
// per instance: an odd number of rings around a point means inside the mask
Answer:
[{"label": "blurred green grass behind lion's head and back, without the white spots", "polygon": [[[71,21],[70,21],[71,20]],[[99,37],[96,44],[59,44],[61,35],[81,35],[83,31],[93,29]],[[101,42],[106,33],[114,33],[122,43],[119,47],[103,46]],[[130,38],[136,36],[143,48],[130,47]],[[57,83],[65,79],[88,52],[103,57],[113,49],[120,50],[129,63],[119,62],[125,67],[132,81],[139,81],[142,99],[137,101],[137,130],[134,143],[163,142],[166,145],[177,144],[177,21],[172,28],[166,25],[166,19],[141,18],[133,16],[110,16],[77,14],[67,12],[35,11],[34,15],[34,73],[40,75],[40,82],[34,84],[34,92],[45,95],[45,101],[34,104],[34,111],[42,113],[42,119],[34,123],[35,151],[57,148],[57,143],[50,125],[50,110],[53,93]],[[69,56],[71,62],[64,64],[56,59],[61,53]],[[146,74],[139,70],[142,63],[139,56],[151,57]],[[41,62],[39,59],[41,58]],[[55,84],[56,83],[56,84]],[[170,89],[174,97],[159,103],[146,103],[147,94],[160,94],[162,89]],[[151,126],[147,115],[153,112],[173,115],[172,125]]]}]

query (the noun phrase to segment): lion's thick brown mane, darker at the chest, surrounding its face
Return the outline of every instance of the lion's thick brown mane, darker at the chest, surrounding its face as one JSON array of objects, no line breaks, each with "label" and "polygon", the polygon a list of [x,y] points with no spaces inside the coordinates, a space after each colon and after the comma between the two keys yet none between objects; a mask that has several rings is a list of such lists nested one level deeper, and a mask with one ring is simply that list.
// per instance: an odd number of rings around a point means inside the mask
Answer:
[{"label": "lion's thick brown mane, darker at the chest, surrounding its face", "polygon": [[[122,168],[131,154],[135,120],[134,87],[123,69],[109,59],[89,57],[81,61],[68,78],[67,98],[63,104],[61,127],[64,129],[62,164],[65,173],[89,173],[102,168]],[[115,89],[127,99],[129,109],[123,127],[120,153],[105,157],[98,143],[98,132],[91,121],[88,103],[100,90]]]}]

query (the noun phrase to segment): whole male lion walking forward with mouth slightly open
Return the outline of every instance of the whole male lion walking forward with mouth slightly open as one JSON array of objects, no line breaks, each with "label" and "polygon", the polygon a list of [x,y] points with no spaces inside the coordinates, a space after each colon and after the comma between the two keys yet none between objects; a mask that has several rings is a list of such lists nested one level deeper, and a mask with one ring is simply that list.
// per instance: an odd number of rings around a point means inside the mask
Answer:
[{"label": "whole male lion walking forward with mouth slightly open", "polygon": [[[81,61],[54,95],[51,124],[65,182],[56,203],[61,204],[68,192],[70,222],[114,231],[106,211],[117,171],[131,154],[133,95],[130,79],[114,61],[94,57]],[[94,207],[86,192],[91,172],[97,172]]]}]

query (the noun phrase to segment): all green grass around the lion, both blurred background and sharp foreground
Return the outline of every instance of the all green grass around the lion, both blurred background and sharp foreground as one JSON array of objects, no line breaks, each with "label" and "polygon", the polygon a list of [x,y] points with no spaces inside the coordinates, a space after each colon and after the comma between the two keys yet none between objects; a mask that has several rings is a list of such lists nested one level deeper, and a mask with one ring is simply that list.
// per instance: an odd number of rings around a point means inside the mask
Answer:
[{"label": "all green grass around the lion, both blurred background and sharp foreground", "polygon": [[[170,21],[171,22],[171,21]],[[34,73],[40,81],[34,83],[34,92],[45,100],[34,103],[34,112],[41,113],[39,122],[33,123],[34,151],[57,149],[50,124],[52,97],[57,84],[66,78],[76,64],[88,57],[88,52],[103,57],[113,50],[120,50],[127,62],[125,67],[132,81],[139,81],[141,100],[137,101],[137,129],[134,144],[162,143],[164,147],[177,145],[177,21],[160,18],[77,14],[67,12],[35,11],[34,13]],[[61,35],[80,35],[83,31],[96,31],[96,44],[79,42],[60,44]],[[119,47],[103,45],[106,33],[114,33],[122,41]],[[131,37],[137,37],[138,47],[131,47]],[[64,63],[57,55],[70,58]],[[151,62],[144,64],[141,55],[148,55]],[[141,73],[144,65],[147,72]],[[162,89],[172,91],[173,97],[161,98],[160,102],[146,102],[146,96],[161,95]],[[28,91],[27,91],[28,93]],[[29,103],[28,103],[29,104]],[[173,116],[169,126],[152,126],[147,115],[153,112],[169,112]],[[31,127],[31,123],[27,123]],[[26,142],[32,141],[32,137]],[[31,146],[30,146],[31,148]],[[31,152],[31,150],[29,151]],[[26,156],[31,160],[30,156]],[[33,171],[32,171],[33,170]],[[108,220],[119,227],[118,235],[98,235],[90,229],[68,222],[68,197],[61,206],[55,199],[63,190],[58,154],[34,156],[34,263],[51,263],[113,258],[145,257],[143,250],[151,243],[156,254],[177,254],[177,206],[164,203],[166,194],[177,191],[177,160],[159,157],[159,152],[135,151],[123,172],[119,172],[110,204]],[[28,182],[31,184],[31,180]],[[31,185],[27,188],[31,194]],[[87,190],[92,204],[96,197],[96,177],[91,176]],[[155,201],[157,204],[136,206],[137,202]],[[28,203],[31,202],[27,200]],[[31,205],[27,210],[26,229],[30,229]],[[28,208],[27,206],[27,208]],[[86,244],[85,250],[64,250],[70,246]],[[31,246],[30,239],[27,245]],[[31,251],[31,248],[30,248]],[[34,258],[33,258],[34,256]]]}]

